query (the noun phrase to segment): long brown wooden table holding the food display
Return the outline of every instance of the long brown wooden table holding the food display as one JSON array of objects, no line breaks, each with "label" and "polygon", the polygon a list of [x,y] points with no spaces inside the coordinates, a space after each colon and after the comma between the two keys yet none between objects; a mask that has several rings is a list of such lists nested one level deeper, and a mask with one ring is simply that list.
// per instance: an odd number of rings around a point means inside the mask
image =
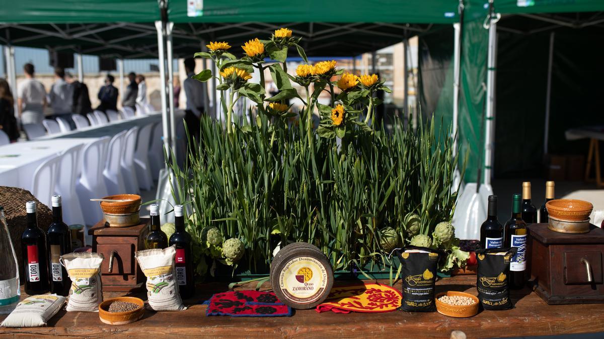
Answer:
[{"label": "long brown wooden table holding the food display", "polygon": [[[382,280],[384,284],[387,281]],[[345,282],[344,282],[345,283]],[[476,293],[476,276],[454,276],[437,282],[437,293],[445,290]],[[238,290],[255,288],[252,282]],[[400,281],[396,287],[400,288]],[[264,284],[262,290],[268,290]],[[515,308],[507,311],[482,311],[472,318],[450,318],[434,313],[390,312],[383,314],[318,314],[315,310],[295,311],[293,317],[234,318],[206,317],[201,302],[211,294],[225,291],[226,284],[198,285],[196,296],[186,300],[189,308],[181,312],[146,311],[130,325],[111,326],[98,320],[97,313],[65,312],[55,315],[45,328],[0,328],[1,337],[69,335],[100,337],[119,334],[129,337],[449,337],[453,330],[468,338],[551,335],[604,331],[604,304],[547,305],[525,288],[512,291]],[[106,293],[105,297],[123,294]],[[138,293],[137,296],[141,296]],[[145,299],[143,297],[143,299]],[[0,320],[4,319],[0,316]]]}]

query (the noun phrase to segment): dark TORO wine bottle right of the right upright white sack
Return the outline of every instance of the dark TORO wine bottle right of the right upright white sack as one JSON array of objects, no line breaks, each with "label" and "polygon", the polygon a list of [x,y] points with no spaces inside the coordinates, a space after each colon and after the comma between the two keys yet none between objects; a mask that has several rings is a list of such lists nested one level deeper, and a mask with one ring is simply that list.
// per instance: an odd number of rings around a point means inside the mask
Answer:
[{"label": "dark TORO wine bottle right of the right upright white sack", "polygon": [[182,299],[188,299],[195,293],[193,249],[191,248],[191,236],[185,230],[182,205],[174,206],[174,225],[176,232],[170,236],[170,246],[176,245],[176,280]]}]

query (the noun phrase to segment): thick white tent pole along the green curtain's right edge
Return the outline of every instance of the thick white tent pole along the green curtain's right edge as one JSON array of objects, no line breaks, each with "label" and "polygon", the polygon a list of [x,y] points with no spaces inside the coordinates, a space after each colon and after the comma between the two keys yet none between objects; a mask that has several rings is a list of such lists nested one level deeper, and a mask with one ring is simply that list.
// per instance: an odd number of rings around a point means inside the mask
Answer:
[{"label": "thick white tent pole along the green curtain's right edge", "polygon": [[484,133],[484,185],[490,185],[493,135],[495,129],[495,75],[497,56],[497,19],[491,19],[489,25],[489,52],[487,54],[487,97],[486,128]]}]

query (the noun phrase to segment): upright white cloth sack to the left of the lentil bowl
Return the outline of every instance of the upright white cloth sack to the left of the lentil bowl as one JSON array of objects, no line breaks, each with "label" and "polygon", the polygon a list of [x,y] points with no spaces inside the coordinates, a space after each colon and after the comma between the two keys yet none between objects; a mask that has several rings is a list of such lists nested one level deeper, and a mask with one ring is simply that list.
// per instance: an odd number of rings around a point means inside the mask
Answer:
[{"label": "upright white cloth sack to the left of the lentil bowl", "polygon": [[98,304],[103,302],[101,284],[101,253],[68,253],[59,262],[65,266],[71,279],[69,300],[66,311],[98,312]]}]

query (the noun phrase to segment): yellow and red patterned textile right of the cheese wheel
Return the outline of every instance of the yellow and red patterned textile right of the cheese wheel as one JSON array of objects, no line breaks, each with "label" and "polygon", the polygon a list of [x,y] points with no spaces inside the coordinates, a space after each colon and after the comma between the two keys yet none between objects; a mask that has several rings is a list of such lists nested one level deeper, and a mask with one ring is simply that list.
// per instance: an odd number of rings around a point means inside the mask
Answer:
[{"label": "yellow and red patterned textile right of the cheese wheel", "polygon": [[388,285],[365,283],[334,287],[326,302],[316,306],[316,311],[336,313],[385,313],[400,307],[403,296]]}]

